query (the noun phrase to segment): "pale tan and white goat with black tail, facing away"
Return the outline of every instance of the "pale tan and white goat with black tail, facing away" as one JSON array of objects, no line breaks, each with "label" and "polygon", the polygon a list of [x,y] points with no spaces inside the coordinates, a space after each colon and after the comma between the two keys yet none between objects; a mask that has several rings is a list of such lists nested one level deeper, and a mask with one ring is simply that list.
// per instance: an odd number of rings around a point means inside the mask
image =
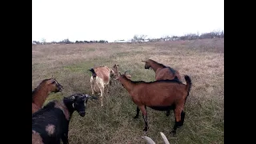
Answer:
[{"label": "pale tan and white goat with black tail, facing away", "polygon": [[113,66],[116,68],[116,71],[107,66],[98,66],[90,69],[92,73],[90,77],[90,89],[93,95],[94,92],[100,93],[101,106],[103,106],[104,90],[106,89],[106,93],[109,91],[109,85],[111,84],[110,78],[118,78],[117,66]]}]

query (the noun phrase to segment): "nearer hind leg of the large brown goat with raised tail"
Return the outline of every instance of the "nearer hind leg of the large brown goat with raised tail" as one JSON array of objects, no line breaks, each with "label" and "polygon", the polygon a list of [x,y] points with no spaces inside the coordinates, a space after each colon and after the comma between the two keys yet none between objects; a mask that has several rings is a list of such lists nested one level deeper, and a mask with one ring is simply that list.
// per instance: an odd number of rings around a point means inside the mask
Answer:
[{"label": "nearer hind leg of the large brown goat with raised tail", "polygon": [[173,130],[170,132],[173,136],[176,134],[176,130],[179,126],[183,125],[185,113],[181,108],[176,108],[174,110],[175,113],[175,124]]}]

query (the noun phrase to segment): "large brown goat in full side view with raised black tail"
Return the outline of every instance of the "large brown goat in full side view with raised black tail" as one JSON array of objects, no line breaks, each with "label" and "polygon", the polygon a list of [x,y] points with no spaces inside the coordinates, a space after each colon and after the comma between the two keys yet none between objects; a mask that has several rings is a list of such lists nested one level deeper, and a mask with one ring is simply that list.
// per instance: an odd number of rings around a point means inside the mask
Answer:
[{"label": "large brown goat in full side view with raised black tail", "polygon": [[175,124],[171,134],[176,134],[178,126],[183,125],[185,118],[183,108],[191,87],[189,76],[185,75],[186,85],[178,81],[178,78],[154,82],[134,82],[126,78],[126,72],[125,74],[120,74],[118,80],[137,105],[137,114],[134,118],[138,118],[139,110],[142,110],[142,117],[145,122],[143,131],[148,129],[146,106],[149,106],[154,110],[160,111],[174,110]]}]

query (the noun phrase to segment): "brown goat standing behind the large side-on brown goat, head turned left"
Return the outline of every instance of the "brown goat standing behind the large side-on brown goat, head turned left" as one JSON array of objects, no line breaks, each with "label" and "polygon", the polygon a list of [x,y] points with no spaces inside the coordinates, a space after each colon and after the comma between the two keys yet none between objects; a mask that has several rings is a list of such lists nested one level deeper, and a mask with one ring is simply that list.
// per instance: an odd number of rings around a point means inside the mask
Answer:
[{"label": "brown goat standing behind the large side-on brown goat, head turned left", "polygon": [[145,62],[145,69],[150,69],[151,67],[154,70],[156,80],[166,80],[166,79],[172,80],[175,78],[175,76],[180,81],[182,80],[178,70],[174,70],[170,66],[164,66],[163,64],[155,62],[152,59],[148,59],[142,62]]}]

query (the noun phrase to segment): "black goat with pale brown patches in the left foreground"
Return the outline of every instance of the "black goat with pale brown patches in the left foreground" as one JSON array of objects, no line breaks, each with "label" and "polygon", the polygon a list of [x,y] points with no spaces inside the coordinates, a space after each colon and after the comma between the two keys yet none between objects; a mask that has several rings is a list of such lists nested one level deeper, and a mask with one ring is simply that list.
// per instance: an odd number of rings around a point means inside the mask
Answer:
[{"label": "black goat with pale brown patches in the left foreground", "polygon": [[86,114],[88,94],[73,94],[62,101],[54,100],[47,103],[41,110],[32,114],[32,144],[63,144],[68,142],[69,123],[74,110],[82,117]]}]

